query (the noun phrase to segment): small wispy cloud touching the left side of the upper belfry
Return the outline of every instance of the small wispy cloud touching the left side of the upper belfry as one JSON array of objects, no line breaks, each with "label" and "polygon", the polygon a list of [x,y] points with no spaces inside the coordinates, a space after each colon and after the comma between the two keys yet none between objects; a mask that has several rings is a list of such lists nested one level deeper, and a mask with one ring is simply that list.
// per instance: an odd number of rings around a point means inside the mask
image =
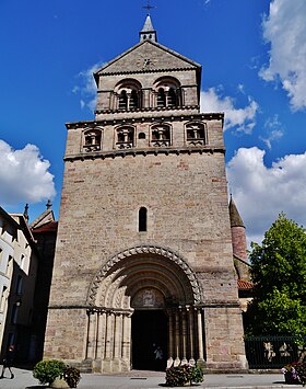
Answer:
[{"label": "small wispy cloud touching the left side of the upper belfry", "polygon": [[96,107],[96,83],[93,73],[99,69],[105,62],[97,62],[91,66],[86,70],[80,71],[78,79],[80,80],[79,85],[74,85],[72,92],[80,95],[80,105],[83,110],[87,107],[90,111],[94,111]]}]

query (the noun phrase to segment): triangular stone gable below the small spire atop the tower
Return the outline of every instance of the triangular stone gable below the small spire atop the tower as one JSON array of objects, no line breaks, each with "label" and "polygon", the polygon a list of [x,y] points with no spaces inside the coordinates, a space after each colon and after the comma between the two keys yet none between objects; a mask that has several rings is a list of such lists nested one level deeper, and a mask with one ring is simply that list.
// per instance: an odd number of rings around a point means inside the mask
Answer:
[{"label": "triangular stone gable below the small spire atop the tower", "polygon": [[[144,59],[146,59],[146,65]],[[98,83],[99,75],[104,73],[133,73],[169,69],[196,69],[200,73],[201,66],[157,42],[144,39],[95,71],[94,78]]]}]

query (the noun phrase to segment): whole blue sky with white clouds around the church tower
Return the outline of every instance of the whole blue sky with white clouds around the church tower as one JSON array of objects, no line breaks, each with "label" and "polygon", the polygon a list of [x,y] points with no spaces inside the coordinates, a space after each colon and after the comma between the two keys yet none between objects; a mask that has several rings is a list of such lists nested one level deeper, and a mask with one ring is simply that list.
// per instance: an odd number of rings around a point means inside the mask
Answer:
[{"label": "whole blue sky with white clouds around the church tower", "polygon": [[[93,119],[91,73],[138,43],[142,0],[0,0],[0,205],[58,217],[67,122]],[[225,112],[231,192],[249,240],[306,225],[306,1],[154,0],[158,42],[202,65]]]}]

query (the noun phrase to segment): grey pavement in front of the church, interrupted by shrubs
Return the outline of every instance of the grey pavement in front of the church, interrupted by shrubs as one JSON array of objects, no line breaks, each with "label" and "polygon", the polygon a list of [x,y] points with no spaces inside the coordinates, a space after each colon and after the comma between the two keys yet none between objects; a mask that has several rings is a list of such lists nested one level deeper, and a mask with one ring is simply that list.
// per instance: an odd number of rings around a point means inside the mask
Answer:
[{"label": "grey pavement in front of the church, interrupted by shrubs", "polygon": [[[14,379],[0,379],[1,389],[44,389],[33,378],[31,370],[13,368]],[[8,375],[9,376],[9,375]],[[130,371],[120,375],[82,374],[78,389],[155,389],[167,388],[165,374],[160,371]],[[238,388],[238,389],[270,389],[270,388],[299,388],[302,386],[285,385],[282,374],[210,374],[205,375],[204,382],[193,388]]]}]

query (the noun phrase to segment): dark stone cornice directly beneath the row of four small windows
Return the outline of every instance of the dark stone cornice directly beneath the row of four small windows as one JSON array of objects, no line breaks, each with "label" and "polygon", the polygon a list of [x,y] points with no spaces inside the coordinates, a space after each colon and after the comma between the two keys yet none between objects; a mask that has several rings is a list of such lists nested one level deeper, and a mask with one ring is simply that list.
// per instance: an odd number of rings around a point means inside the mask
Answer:
[{"label": "dark stone cornice directly beneath the row of four small windows", "polygon": [[202,146],[202,147],[167,147],[167,148],[145,148],[145,149],[127,149],[127,150],[111,150],[111,151],[94,151],[86,153],[78,153],[70,155],[64,157],[64,161],[74,162],[74,161],[84,161],[84,160],[94,160],[94,159],[106,159],[106,158],[125,158],[127,156],[157,156],[157,155],[191,155],[191,153],[225,153],[225,147],[211,147],[211,146]]}]

